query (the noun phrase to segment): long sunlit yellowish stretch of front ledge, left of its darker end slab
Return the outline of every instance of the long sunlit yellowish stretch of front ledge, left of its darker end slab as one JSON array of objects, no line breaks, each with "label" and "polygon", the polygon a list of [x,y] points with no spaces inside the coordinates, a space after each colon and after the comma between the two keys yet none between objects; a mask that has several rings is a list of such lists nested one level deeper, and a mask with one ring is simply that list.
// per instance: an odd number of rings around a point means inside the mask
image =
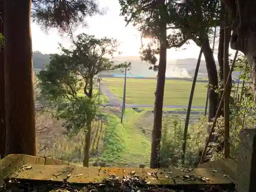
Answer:
[{"label": "long sunlit yellowish stretch of front ledge, left of its darker end slab", "polygon": [[[67,179],[74,183],[102,182],[111,175],[122,178],[123,176],[139,176],[145,178],[148,184],[175,185],[170,173],[163,169],[150,168],[113,168],[113,167],[79,167],[74,165],[32,165],[18,174],[11,175],[15,179],[52,180],[63,181]],[[168,176],[167,176],[168,175]],[[69,177],[68,177],[69,176]]]}]

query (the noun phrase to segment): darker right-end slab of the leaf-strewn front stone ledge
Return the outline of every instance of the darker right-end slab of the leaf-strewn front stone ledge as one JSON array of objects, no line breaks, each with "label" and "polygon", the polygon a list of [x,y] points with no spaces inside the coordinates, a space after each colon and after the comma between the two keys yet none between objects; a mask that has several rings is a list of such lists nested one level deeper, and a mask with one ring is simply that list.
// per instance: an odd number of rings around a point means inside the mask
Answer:
[{"label": "darker right-end slab of the leaf-strewn front stone ledge", "polygon": [[218,168],[173,169],[172,172],[176,185],[233,184],[233,181],[223,175]]}]

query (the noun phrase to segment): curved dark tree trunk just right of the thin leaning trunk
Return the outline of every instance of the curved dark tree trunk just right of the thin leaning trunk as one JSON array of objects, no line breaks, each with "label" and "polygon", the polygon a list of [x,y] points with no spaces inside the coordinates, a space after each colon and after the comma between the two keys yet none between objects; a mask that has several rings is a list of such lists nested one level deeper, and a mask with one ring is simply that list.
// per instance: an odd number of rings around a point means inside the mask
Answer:
[{"label": "curved dark tree trunk just right of the thin leaning trunk", "polygon": [[216,115],[218,107],[218,94],[215,90],[218,88],[218,73],[216,68],[216,63],[214,59],[214,53],[210,48],[209,38],[205,35],[205,38],[202,39],[202,49],[206,62],[206,69],[208,73],[208,82],[212,86],[209,89],[209,113],[208,113],[208,122],[211,122]]}]

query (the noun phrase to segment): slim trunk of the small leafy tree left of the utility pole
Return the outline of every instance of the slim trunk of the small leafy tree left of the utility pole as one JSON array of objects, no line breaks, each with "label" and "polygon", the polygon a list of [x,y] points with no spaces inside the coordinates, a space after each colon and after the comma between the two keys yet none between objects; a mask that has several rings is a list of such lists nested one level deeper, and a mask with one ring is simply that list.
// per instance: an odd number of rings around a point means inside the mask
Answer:
[{"label": "slim trunk of the small leafy tree left of the utility pole", "polygon": [[[93,97],[93,76],[90,77],[88,96],[89,96],[90,99],[92,99],[92,97]],[[87,131],[86,131],[86,140],[85,140],[85,145],[84,145],[84,148],[83,148],[83,166],[84,167],[89,166],[91,131],[92,131],[92,121],[88,122]]]}]

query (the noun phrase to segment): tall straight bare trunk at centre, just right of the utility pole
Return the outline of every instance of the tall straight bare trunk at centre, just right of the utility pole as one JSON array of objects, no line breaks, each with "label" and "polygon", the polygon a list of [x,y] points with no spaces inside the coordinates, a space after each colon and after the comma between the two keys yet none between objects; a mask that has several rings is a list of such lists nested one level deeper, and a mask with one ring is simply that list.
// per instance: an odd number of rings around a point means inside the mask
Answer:
[{"label": "tall straight bare trunk at centre, just right of the utility pole", "polygon": [[[165,1],[161,0],[160,8],[166,10]],[[150,168],[159,168],[159,154],[160,154],[160,142],[162,136],[162,114],[163,114],[163,96],[164,96],[164,84],[165,84],[165,72],[166,72],[166,20],[165,12],[160,15],[160,54],[159,65],[157,75],[157,88],[156,99],[154,107],[154,125],[152,131],[152,144],[151,144],[151,159]]]}]

